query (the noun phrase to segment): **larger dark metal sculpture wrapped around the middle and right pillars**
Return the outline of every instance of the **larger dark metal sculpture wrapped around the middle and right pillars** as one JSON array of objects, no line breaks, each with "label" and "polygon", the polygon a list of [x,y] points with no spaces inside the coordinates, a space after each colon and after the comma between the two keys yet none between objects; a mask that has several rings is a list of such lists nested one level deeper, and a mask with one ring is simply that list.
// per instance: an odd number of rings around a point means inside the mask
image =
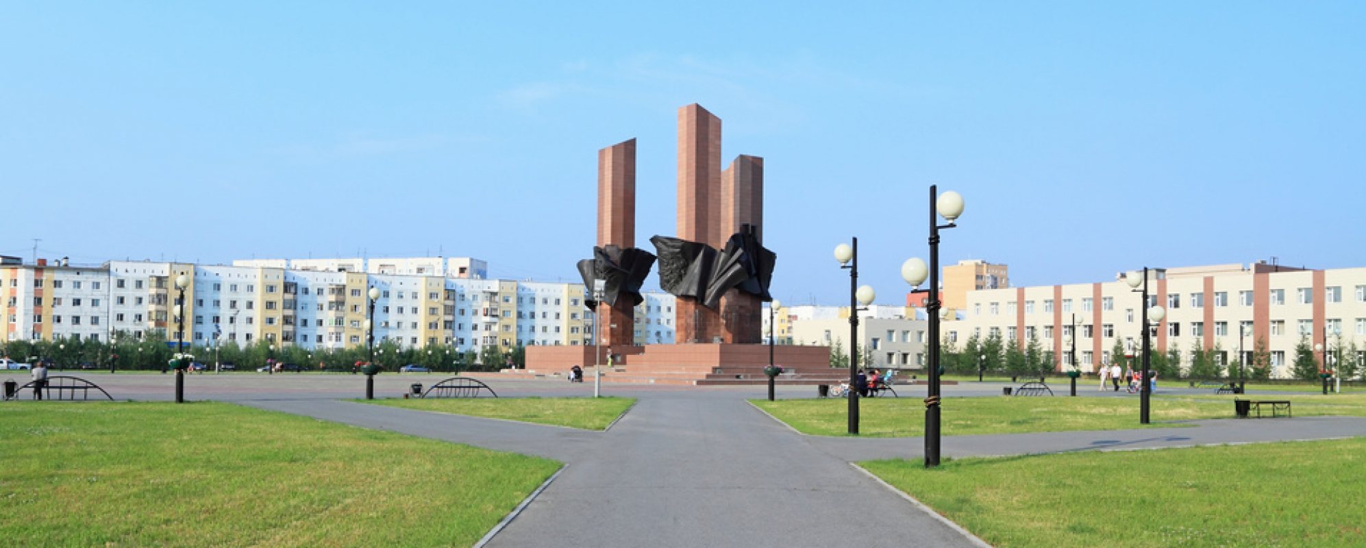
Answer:
[{"label": "larger dark metal sculpture wrapped around the middle and right pillars", "polygon": [[650,243],[660,254],[660,287],[675,297],[694,298],[713,310],[732,287],[773,299],[768,288],[777,256],[761,246],[749,227],[732,235],[721,251],[669,236],[653,236]]}]

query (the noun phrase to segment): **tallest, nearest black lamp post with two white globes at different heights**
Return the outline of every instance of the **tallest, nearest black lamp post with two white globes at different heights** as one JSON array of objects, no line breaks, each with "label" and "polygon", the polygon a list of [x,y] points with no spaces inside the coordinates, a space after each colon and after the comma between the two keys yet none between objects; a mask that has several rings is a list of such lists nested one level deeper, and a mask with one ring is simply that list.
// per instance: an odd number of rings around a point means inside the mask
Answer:
[{"label": "tallest, nearest black lamp post with two white globes at different heights", "polygon": [[[925,467],[938,466],[940,461],[940,314],[943,306],[938,294],[938,231],[940,228],[953,228],[958,217],[963,215],[963,197],[949,190],[938,193],[936,184],[930,184],[930,262],[925,264],[919,257],[912,257],[902,264],[902,277],[911,287],[919,287],[929,277],[929,298],[925,301],[926,316],[929,317],[930,347],[926,353],[929,359],[926,366],[930,370],[929,395],[925,396]],[[938,224],[940,217],[948,224]]]}]

